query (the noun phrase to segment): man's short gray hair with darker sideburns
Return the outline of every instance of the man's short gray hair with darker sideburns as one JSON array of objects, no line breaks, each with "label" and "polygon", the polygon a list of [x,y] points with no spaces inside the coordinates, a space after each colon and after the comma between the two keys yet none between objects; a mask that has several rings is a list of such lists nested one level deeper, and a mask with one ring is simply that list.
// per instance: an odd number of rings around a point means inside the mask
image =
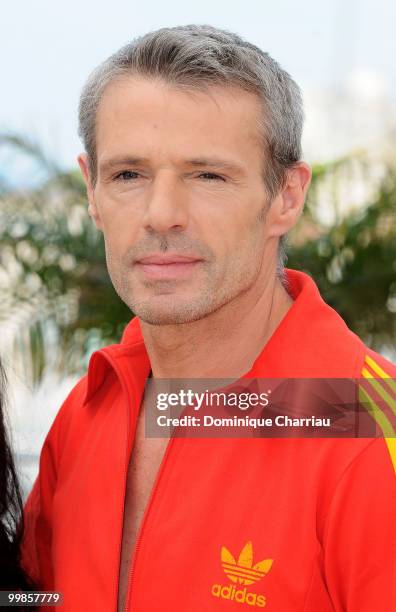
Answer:
[{"label": "man's short gray hair with darker sideburns", "polygon": [[[100,64],[89,76],[79,104],[79,135],[88,155],[93,184],[97,178],[96,114],[106,86],[126,76],[148,76],[186,89],[236,86],[256,94],[263,113],[263,180],[270,198],[284,185],[286,171],[301,158],[304,121],[301,92],[290,75],[255,45],[237,34],[209,25],[161,28],[138,37]],[[286,260],[279,241],[278,272]]]}]

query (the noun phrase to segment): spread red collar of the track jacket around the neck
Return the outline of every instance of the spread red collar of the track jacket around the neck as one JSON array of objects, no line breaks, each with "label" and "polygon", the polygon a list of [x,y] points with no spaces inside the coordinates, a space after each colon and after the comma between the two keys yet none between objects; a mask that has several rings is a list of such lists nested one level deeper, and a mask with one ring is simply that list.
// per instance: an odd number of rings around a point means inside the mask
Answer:
[{"label": "spread red collar of the track jacket around the neck", "polygon": [[[353,378],[360,375],[364,345],[337,312],[326,304],[305,272],[285,269],[293,304],[242,378]],[[142,392],[150,372],[140,320],[126,326],[121,343],[96,351],[90,360],[85,402],[113,367],[139,381]],[[141,387],[141,388],[140,388]]]}]

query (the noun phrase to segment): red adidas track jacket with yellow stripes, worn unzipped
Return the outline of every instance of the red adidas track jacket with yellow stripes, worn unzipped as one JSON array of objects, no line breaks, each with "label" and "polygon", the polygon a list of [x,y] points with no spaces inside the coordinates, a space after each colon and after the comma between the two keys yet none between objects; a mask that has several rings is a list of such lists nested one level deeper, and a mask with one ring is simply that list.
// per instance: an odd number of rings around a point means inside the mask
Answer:
[{"label": "red adidas track jacket with yellow stripes, worn unzipped", "polygon": [[[395,410],[395,366],[308,275],[287,276],[295,301],[245,377],[364,376],[373,404],[381,396]],[[117,610],[126,474],[149,371],[135,318],[121,344],[94,353],[45,440],[23,558],[43,589],[63,593],[64,612]],[[386,439],[171,439],[127,610],[394,612],[391,427]]]}]

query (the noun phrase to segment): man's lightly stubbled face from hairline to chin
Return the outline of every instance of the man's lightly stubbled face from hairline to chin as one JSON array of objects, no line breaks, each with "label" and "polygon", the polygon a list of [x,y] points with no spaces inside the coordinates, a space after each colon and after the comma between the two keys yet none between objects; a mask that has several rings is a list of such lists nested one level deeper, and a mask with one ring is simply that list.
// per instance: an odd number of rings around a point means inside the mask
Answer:
[{"label": "man's lightly stubbled face from hairline to chin", "polygon": [[191,93],[137,77],[106,89],[90,211],[114,287],[143,321],[202,319],[275,265],[259,113],[238,89]]}]

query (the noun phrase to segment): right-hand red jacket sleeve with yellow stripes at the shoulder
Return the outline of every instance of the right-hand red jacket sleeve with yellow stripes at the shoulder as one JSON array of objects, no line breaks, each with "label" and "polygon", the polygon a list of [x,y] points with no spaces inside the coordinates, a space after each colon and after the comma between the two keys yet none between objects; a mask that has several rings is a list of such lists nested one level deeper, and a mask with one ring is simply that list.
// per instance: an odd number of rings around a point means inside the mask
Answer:
[{"label": "right-hand red jacket sleeve with yellow stripes at the shoulder", "polygon": [[396,610],[395,379],[396,366],[367,348],[359,387],[384,437],[367,440],[344,469],[326,518],[326,582],[337,612]]}]

